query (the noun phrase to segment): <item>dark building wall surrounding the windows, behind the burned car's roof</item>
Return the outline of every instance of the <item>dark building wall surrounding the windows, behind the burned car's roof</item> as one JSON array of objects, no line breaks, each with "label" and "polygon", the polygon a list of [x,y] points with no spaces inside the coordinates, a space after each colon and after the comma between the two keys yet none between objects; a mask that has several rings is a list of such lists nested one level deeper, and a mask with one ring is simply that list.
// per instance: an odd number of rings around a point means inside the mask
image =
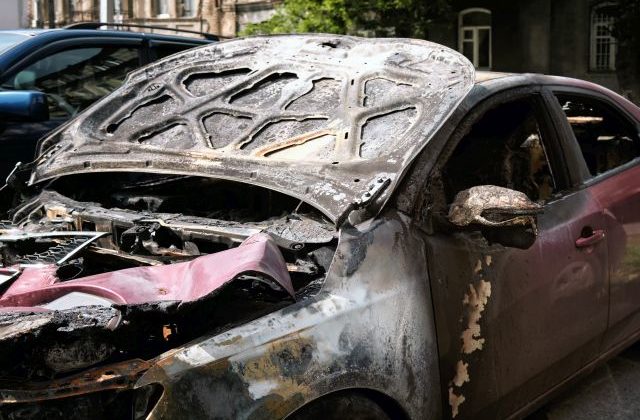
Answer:
[{"label": "dark building wall surrounding the windows, behind the burned car's roof", "polygon": [[[608,66],[594,65],[595,15],[602,0],[454,0],[454,16],[432,26],[429,38],[459,49],[460,14],[484,9],[491,19],[491,70],[532,72],[590,80],[619,91],[615,54]],[[610,45],[608,48],[615,48]],[[640,92],[620,92],[638,98]]]}]

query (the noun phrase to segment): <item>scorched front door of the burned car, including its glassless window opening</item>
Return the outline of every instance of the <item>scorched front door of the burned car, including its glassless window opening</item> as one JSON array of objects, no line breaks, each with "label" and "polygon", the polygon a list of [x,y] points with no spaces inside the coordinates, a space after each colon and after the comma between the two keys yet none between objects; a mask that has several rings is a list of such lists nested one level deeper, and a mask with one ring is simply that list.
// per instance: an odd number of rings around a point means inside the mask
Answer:
[{"label": "scorched front door of the burned car, including its glassless window opening", "polygon": [[[526,409],[597,356],[607,326],[602,209],[591,190],[572,188],[570,174],[581,169],[567,156],[579,151],[565,147],[547,102],[535,89],[483,102],[431,174],[429,276],[444,403],[454,418]],[[505,245],[495,235],[501,228],[448,223],[455,195],[477,185],[543,205],[533,245]]]}]

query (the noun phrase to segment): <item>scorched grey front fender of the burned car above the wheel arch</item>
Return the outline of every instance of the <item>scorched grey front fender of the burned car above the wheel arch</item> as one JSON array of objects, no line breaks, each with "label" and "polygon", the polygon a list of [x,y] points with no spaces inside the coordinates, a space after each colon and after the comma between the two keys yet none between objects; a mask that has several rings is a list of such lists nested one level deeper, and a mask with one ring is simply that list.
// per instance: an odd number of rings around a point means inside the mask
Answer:
[{"label": "scorched grey front fender of the burned car above the wheel arch", "polygon": [[161,358],[152,418],[280,418],[326,393],[369,388],[412,418],[441,417],[423,239],[389,211],[345,227],[321,293]]}]

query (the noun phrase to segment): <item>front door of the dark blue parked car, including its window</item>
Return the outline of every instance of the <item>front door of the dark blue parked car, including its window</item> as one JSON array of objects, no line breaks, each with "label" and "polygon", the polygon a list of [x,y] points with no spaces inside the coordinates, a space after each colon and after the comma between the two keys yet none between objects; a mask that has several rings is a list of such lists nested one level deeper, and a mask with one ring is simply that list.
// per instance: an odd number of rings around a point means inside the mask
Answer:
[{"label": "front door of the dark blue parked car, including its window", "polygon": [[40,137],[112,92],[140,65],[135,42],[69,40],[32,54],[0,80],[3,90],[38,90],[47,94],[49,120],[3,121],[0,126],[0,178],[15,162],[34,158]]}]

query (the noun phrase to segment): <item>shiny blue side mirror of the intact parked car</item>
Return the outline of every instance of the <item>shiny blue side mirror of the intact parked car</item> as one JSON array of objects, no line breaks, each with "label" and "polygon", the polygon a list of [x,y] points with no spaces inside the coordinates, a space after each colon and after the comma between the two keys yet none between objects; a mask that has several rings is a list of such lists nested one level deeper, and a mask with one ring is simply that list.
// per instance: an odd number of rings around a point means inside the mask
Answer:
[{"label": "shiny blue side mirror of the intact parked car", "polygon": [[37,91],[0,92],[0,121],[39,122],[49,119],[47,96]]}]

